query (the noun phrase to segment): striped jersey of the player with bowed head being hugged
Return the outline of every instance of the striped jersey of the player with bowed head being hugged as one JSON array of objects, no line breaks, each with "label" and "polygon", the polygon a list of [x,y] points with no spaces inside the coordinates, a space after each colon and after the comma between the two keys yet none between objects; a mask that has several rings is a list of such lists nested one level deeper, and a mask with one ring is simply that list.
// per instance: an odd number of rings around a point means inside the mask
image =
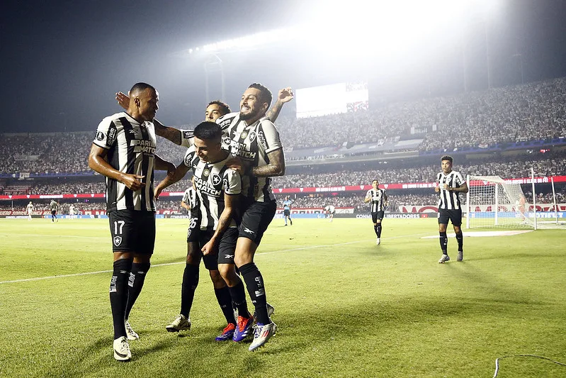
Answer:
[{"label": "striped jersey of the player with bowed head being hugged", "polygon": [[[190,147],[185,153],[183,164],[193,169],[198,202],[198,219],[201,230],[216,230],[220,214],[224,211],[224,194],[242,193],[242,179],[237,171],[226,167],[230,155],[220,162],[201,161]],[[193,212],[191,211],[191,216]],[[234,217],[230,227],[237,227]]]}]

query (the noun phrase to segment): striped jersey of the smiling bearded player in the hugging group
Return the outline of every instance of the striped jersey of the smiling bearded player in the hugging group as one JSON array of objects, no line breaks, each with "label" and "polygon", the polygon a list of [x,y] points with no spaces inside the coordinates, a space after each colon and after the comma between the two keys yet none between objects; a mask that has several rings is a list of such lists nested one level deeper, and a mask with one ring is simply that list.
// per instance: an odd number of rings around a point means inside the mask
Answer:
[{"label": "striped jersey of the smiling bearded player in the hugging group", "polygon": [[[241,157],[251,167],[268,165],[268,153],[283,147],[275,125],[267,117],[247,125],[246,121],[239,119],[239,113],[228,113],[218,118],[216,123],[223,132],[222,148]],[[244,195],[258,202],[275,201],[271,178],[249,177],[249,189]]]}]

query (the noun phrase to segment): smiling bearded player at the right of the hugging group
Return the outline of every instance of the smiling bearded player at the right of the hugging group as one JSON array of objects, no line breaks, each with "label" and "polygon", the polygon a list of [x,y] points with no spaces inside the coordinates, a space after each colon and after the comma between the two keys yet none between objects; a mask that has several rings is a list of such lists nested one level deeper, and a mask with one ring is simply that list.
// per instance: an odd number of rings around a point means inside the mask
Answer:
[{"label": "smiling bearded player at the right of the hugging group", "polygon": [[[249,350],[261,347],[276,333],[277,327],[268,315],[264,278],[254,263],[261,238],[277,210],[271,191],[271,178],[285,174],[285,157],[279,133],[266,117],[271,104],[271,91],[261,84],[251,84],[240,101],[240,111],[217,119],[224,131],[223,143],[232,155],[247,167],[248,206],[239,226],[234,262],[244,277],[249,296],[256,308],[256,329]],[[238,316],[239,326],[251,328],[253,317]]]}]

